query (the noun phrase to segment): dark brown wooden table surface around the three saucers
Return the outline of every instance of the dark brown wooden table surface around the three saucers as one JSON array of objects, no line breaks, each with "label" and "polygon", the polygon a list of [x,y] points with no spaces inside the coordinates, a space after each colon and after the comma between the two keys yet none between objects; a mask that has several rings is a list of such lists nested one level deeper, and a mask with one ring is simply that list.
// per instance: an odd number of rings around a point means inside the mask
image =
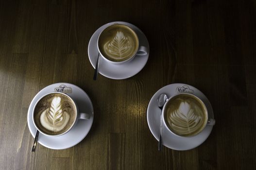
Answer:
[{"label": "dark brown wooden table surface around the three saucers", "polygon": [[[88,42],[111,21],[144,32],[149,60],[129,79],[93,81]],[[89,95],[92,128],[72,148],[31,153],[29,104],[57,82]],[[195,149],[158,152],[147,104],[172,83],[204,92],[216,125]],[[0,170],[119,169],[256,169],[255,0],[0,0]]]}]

